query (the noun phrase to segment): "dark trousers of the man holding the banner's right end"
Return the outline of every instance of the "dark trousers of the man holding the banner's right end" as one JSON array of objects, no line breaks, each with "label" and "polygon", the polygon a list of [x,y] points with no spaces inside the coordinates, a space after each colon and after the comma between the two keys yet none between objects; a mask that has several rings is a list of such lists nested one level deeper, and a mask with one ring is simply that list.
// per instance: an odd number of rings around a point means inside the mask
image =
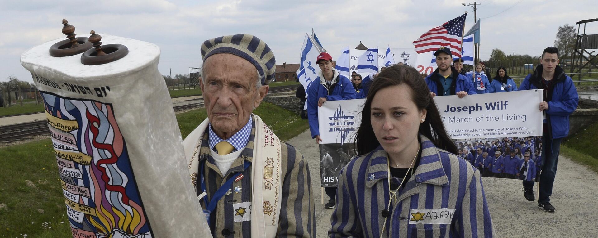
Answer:
[{"label": "dark trousers of the man holding the banner's right end", "polygon": [[[560,143],[563,138],[548,139],[542,138],[542,171],[540,172],[540,194],[538,203],[550,202],[550,195],[553,194],[554,176],[557,174],[557,163],[559,162]],[[523,187],[533,188],[534,181],[523,181]]]}]

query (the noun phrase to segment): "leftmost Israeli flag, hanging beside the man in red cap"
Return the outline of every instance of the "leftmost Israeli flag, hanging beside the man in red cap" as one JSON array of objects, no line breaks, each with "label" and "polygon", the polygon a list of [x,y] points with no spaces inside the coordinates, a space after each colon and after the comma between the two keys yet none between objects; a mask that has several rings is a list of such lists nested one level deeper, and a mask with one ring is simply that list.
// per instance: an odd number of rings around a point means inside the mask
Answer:
[{"label": "leftmost Israeli flag, hanging beside the man in red cap", "polygon": [[297,78],[306,91],[309,85],[318,78],[316,58],[318,58],[319,54],[318,47],[313,44],[312,39],[306,33],[303,40],[303,47],[301,47],[301,61],[297,70]]}]

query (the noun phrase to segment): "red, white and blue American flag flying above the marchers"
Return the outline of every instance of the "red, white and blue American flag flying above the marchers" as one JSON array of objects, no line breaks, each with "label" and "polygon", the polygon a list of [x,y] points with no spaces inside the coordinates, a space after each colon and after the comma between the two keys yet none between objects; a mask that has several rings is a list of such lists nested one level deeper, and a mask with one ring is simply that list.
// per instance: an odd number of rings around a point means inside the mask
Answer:
[{"label": "red, white and blue American flag flying above the marchers", "polygon": [[423,33],[419,39],[413,42],[415,52],[422,54],[436,51],[440,47],[447,47],[450,48],[453,57],[461,57],[461,38],[466,16],[467,13]]}]

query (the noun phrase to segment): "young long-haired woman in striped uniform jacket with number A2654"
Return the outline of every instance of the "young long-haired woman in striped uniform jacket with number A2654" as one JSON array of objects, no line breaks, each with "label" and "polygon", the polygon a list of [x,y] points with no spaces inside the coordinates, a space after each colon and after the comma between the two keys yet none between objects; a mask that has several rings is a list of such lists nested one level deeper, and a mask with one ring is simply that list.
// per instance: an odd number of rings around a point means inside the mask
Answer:
[{"label": "young long-haired woman in striped uniform jacket with number A2654", "polygon": [[416,69],[381,72],[362,113],[329,237],[495,236],[480,171],[456,155]]}]

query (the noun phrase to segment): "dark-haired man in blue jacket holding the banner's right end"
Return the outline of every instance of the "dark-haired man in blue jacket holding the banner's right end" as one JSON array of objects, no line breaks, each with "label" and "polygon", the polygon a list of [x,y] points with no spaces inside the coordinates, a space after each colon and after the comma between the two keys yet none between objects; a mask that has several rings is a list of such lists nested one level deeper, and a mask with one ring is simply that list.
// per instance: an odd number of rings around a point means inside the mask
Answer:
[{"label": "dark-haired man in blue jacket holding the banner's right end", "polygon": [[[527,75],[519,90],[544,89],[544,101],[539,104],[539,110],[544,112],[542,137],[542,157],[544,165],[540,174],[538,207],[545,212],[554,212],[550,204],[553,193],[554,175],[557,172],[560,143],[569,134],[569,115],[575,112],[579,103],[577,89],[573,81],[563,68],[559,66],[559,49],[548,47],[542,52],[541,64],[536,70]],[[534,181],[523,181],[524,197],[533,201]]]}]

